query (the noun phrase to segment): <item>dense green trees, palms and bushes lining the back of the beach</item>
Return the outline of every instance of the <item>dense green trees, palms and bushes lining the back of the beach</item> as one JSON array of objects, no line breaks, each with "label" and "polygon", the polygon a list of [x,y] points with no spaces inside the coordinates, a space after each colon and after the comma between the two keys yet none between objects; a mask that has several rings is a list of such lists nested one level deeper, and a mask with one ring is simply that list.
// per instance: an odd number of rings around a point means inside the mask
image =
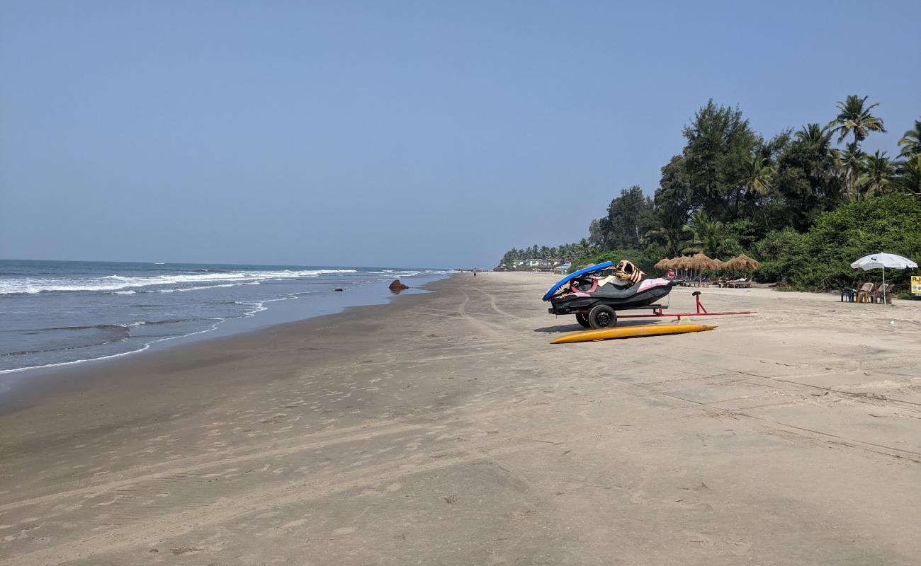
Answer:
[{"label": "dense green trees, palms and bushes lining the back of the beach", "polygon": [[[839,225],[823,232],[832,251],[853,254],[863,247],[860,255],[890,251],[917,259],[921,120],[899,138],[897,156],[879,150],[870,154],[862,149],[863,142],[886,133],[879,104],[850,95],[836,107],[833,120],[824,125],[807,123],[766,138],[752,130],[738,107],[711,99],[684,126],[682,152],[661,167],[653,196],[638,186],[623,189],[607,214],[590,222],[589,237],[579,245],[513,248],[501,263],[542,258],[519,255],[555,249],[557,254],[547,259],[578,264],[619,254],[649,270],[664,257],[704,252],[726,260],[746,253],[763,262],[756,279],[802,289],[830,288],[857,277],[842,267],[844,256],[798,254],[816,253],[810,232],[827,228],[835,213]],[[882,211],[886,222],[877,223],[874,233],[864,234],[862,241],[846,238],[853,230],[865,233],[861,222],[876,218],[876,211]],[[810,264],[821,260],[827,262],[824,268]]]}]

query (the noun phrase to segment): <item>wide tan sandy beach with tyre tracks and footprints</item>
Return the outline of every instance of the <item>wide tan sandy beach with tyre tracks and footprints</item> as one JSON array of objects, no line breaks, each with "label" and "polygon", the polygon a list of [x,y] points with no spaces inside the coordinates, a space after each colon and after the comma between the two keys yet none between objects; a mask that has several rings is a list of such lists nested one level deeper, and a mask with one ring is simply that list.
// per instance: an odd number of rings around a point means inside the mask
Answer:
[{"label": "wide tan sandy beach with tyre tracks and footprints", "polygon": [[758,312],[552,346],[555,279],[34,380],[0,564],[919,563],[921,303],[705,289]]}]

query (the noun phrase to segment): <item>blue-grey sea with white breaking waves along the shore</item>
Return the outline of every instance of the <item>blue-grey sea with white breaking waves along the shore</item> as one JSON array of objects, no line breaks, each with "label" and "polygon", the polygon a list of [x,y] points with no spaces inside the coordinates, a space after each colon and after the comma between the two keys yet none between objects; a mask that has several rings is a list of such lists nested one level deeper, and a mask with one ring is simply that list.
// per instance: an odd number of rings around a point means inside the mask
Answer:
[{"label": "blue-grey sea with white breaking waves along the shore", "polygon": [[[385,302],[437,269],[0,260],[0,374]],[[344,292],[335,292],[343,288]],[[410,292],[413,292],[412,290]]]}]

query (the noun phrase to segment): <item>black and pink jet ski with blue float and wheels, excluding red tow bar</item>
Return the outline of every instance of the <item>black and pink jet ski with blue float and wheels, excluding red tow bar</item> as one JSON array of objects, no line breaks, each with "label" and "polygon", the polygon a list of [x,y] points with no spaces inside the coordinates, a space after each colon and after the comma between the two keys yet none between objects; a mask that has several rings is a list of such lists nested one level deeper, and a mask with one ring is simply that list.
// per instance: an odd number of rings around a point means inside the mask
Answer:
[{"label": "black and pink jet ski with blue float and wheels, excluding red tow bar", "polygon": [[552,315],[576,315],[587,329],[607,329],[617,324],[615,310],[652,306],[671,293],[678,282],[670,279],[644,279],[645,273],[630,261],[613,267],[605,261],[566,275],[543,295],[550,301]]}]

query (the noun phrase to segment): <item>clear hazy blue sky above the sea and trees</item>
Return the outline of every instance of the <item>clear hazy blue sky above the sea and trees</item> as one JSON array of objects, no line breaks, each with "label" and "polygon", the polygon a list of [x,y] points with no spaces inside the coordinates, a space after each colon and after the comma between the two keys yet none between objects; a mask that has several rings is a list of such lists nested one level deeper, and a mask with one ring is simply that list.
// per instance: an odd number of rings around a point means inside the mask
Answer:
[{"label": "clear hazy blue sky above the sea and trees", "polygon": [[764,136],[921,117],[921,3],[0,0],[0,258],[494,266]]}]

